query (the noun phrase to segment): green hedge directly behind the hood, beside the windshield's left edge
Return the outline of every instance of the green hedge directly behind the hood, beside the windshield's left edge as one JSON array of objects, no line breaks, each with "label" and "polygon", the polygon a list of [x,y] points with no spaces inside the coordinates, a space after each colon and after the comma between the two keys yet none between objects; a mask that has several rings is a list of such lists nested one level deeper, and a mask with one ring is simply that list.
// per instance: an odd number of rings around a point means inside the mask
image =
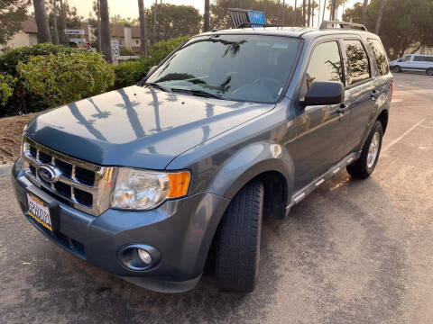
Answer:
[{"label": "green hedge directly behind the hood, beside the windshield's left edge", "polygon": [[142,57],[134,62],[122,62],[115,67],[115,85],[112,89],[119,89],[135,85],[147,75],[149,69],[161,63],[174,49],[187,41],[189,37],[178,37],[171,40],[162,40],[153,44],[147,58]]}]

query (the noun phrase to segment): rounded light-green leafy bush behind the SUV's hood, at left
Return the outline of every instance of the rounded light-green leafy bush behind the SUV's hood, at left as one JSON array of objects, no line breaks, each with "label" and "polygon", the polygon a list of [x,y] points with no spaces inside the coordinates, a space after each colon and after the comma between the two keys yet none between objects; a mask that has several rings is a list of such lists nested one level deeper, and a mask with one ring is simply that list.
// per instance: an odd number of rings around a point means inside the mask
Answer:
[{"label": "rounded light-green leafy bush behind the SUV's hood, at left", "polygon": [[113,85],[113,67],[100,53],[60,51],[20,62],[17,67],[24,85],[40,94],[51,107],[106,92]]}]

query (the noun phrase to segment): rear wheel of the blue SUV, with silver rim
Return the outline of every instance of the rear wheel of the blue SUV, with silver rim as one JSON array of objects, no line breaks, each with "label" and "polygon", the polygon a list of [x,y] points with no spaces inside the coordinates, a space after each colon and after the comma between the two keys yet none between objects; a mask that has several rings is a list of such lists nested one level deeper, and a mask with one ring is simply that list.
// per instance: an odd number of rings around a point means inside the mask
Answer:
[{"label": "rear wheel of the blue SUV, with silver rim", "polygon": [[[376,135],[377,134],[377,135]],[[377,136],[377,137],[375,137]],[[377,160],[381,153],[382,148],[382,138],[383,138],[383,127],[381,121],[376,121],[373,125],[373,129],[370,131],[367,140],[365,140],[364,148],[361,152],[361,156],[350,166],[347,166],[347,172],[352,177],[358,179],[364,179],[370,176],[374,168],[376,167]],[[376,144],[372,144],[375,141]],[[377,148],[376,154],[373,155],[373,151]],[[369,155],[369,153],[371,153]]]}]

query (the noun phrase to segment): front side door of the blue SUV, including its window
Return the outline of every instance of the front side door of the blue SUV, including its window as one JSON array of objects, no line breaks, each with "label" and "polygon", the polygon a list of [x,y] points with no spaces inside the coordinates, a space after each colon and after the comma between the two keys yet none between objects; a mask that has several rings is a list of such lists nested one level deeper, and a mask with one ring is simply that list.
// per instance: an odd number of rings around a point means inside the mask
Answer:
[{"label": "front side door of the blue SUV, including its window", "polygon": [[[342,62],[336,40],[318,43],[311,52],[299,99],[305,97],[316,81],[344,83]],[[295,103],[297,138],[292,152],[295,190],[324,174],[345,156],[350,126],[349,104],[349,92],[342,104],[302,107]]]}]

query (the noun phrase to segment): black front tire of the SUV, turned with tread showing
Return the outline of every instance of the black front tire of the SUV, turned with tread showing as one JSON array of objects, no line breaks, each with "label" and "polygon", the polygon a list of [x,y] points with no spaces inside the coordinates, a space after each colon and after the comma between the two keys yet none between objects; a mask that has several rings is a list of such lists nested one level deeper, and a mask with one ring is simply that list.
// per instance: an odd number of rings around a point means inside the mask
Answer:
[{"label": "black front tire of the SUV, turned with tread showing", "polygon": [[215,275],[220,285],[243,293],[254,290],[260,259],[263,184],[246,184],[230,202],[215,237]]}]

